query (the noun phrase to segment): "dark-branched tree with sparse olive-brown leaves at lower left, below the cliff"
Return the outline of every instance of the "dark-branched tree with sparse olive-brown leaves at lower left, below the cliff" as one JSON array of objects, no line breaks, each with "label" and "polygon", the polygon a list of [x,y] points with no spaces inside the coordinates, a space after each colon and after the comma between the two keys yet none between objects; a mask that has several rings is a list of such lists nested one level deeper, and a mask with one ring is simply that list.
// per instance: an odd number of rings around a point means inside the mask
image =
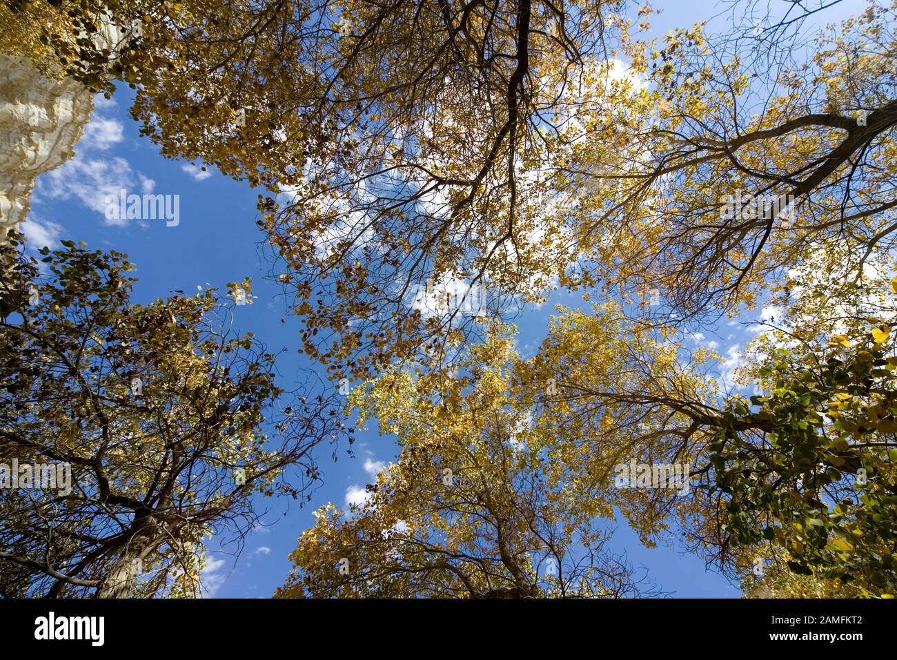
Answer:
[{"label": "dark-branched tree with sparse olive-brown leaves at lower left, below the cliff", "polygon": [[0,283],[0,593],[196,595],[205,539],[305,497],[351,429],[214,289],[134,304],[126,255],[63,245]]}]

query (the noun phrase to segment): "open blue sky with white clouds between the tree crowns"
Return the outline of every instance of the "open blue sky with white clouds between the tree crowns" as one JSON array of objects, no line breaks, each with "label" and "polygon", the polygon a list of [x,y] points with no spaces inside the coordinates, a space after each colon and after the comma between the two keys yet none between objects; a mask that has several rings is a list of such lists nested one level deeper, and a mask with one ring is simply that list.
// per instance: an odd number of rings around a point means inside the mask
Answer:
[{"label": "open blue sky with white clouds between the tree crowns", "polygon": [[[845,4],[852,6],[844,10],[860,8],[858,3]],[[717,5],[668,5],[674,8],[654,21],[653,32],[657,35],[672,27],[689,26],[719,11]],[[842,13],[845,12],[827,13],[826,22],[840,18]],[[300,323],[288,313],[280,287],[267,279],[274,264],[266,256],[263,235],[255,224],[258,190],[227,179],[213,168],[203,172],[198,163],[162,158],[155,146],[139,135],[137,124],[127,115],[130,93],[121,88],[111,101],[98,98],[74,160],[40,177],[29,221],[22,227],[30,249],[44,244],[52,247],[71,238],[86,241],[91,248],[125,252],[137,267],[136,302],[150,301],[177,289],[189,293],[196,291],[196,286],[216,286],[224,291],[227,282],[251,277],[257,298],[254,304],[237,308],[237,325],[239,330],[253,331],[272,352],[289,348],[278,368],[283,374],[282,384],[290,385],[290,374],[307,362],[296,350]],[[108,220],[103,213],[104,198],[108,193],[118,195],[122,188],[136,193],[179,195],[179,224],[167,226],[164,220]],[[531,355],[544,336],[547,317],[558,302],[573,304],[575,299],[557,295],[541,309],[522,314],[516,320],[519,348],[525,356]],[[753,321],[761,313],[753,312],[739,321]],[[738,364],[745,342],[753,336],[744,324],[731,323],[727,325],[724,320],[718,327],[702,329],[686,339],[690,346],[710,344],[730,357],[727,365],[720,366],[723,374]],[[396,455],[396,445],[388,436],[370,431],[356,436],[354,458],[346,456],[343,447],[334,463],[329,450],[322,450],[319,458],[324,485],[314,492],[305,508],[298,508],[292,501],[290,508],[280,500],[265,501],[265,506],[272,507],[264,516],[270,526],[250,534],[239,559],[214,551],[213,542],[205,575],[210,595],[268,597],[283,584],[290,570],[287,555],[295,548],[300,532],[311,524],[311,512],[328,501],[344,506],[347,500],[359,497],[364,484],[374,480]],[[658,585],[675,596],[740,595],[736,586],[706,570],[701,559],[675,548],[644,548],[623,519],[618,521],[613,547],[625,550],[633,564],[649,568]]]}]

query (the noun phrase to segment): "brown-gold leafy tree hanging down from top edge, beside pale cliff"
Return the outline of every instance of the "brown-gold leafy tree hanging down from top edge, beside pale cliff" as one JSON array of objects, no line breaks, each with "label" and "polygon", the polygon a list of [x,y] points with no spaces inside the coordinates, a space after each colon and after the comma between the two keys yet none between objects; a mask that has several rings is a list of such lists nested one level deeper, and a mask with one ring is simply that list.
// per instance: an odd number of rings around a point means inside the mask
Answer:
[{"label": "brown-gold leafy tree hanging down from top edge, beside pale cliff", "polygon": [[44,35],[63,69],[134,86],[162,154],[266,187],[259,222],[291,271],[304,347],[337,377],[442,359],[461,321],[476,334],[457,310],[407,314],[414,286],[537,297],[570,259],[524,171],[549,168],[546,126],[576,105],[557,90],[623,30],[620,2],[17,6],[11,29],[74,13],[73,32]]}]

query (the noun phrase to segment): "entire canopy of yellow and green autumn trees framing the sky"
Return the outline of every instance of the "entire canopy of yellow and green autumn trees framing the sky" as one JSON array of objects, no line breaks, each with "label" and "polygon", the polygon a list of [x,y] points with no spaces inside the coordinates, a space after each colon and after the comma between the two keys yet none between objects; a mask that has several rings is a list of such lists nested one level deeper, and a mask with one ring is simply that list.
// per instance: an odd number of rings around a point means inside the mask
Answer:
[{"label": "entire canopy of yellow and green autumn trees framing the sky", "polygon": [[[0,19],[26,38],[0,43],[131,85],[161,154],[259,187],[301,351],[397,436],[363,506],[318,510],[278,595],[658,594],[611,550],[623,515],[749,594],[893,597],[897,3],[816,30],[827,5],[793,5],[655,39],[655,10],[623,0],[18,0]],[[58,545],[37,519],[11,532],[4,589],[102,588],[130,536],[174,567],[159,549],[245,513],[250,486],[300,494],[274,474],[315,476],[330,404],[283,409],[263,450],[273,358],[206,329],[213,292],[133,306],[120,255],[47,257],[37,306],[32,267],[4,297],[22,321],[3,323],[2,429],[94,484],[57,502]],[[589,305],[524,358],[514,313],[554,292]],[[727,387],[684,334],[760,305],[775,322]],[[175,389],[129,398],[131,374]],[[59,446],[35,439],[51,427]],[[157,462],[118,463],[144,434]],[[229,491],[235,453],[255,476]],[[627,465],[655,466],[648,485]]]}]

